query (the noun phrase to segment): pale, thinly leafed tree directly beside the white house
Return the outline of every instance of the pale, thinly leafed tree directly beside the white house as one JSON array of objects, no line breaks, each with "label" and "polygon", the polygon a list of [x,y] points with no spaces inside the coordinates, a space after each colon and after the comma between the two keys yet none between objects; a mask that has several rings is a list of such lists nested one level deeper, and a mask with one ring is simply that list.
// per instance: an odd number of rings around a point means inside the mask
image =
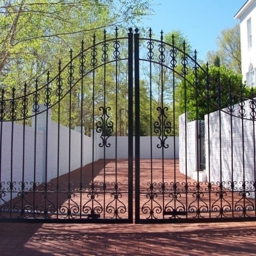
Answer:
[{"label": "pale, thinly leafed tree directly beside the white house", "polygon": [[220,64],[241,74],[241,39],[240,26],[236,24],[233,28],[221,30],[216,38],[217,51],[207,52],[206,60],[214,65],[216,56],[220,58]]}]

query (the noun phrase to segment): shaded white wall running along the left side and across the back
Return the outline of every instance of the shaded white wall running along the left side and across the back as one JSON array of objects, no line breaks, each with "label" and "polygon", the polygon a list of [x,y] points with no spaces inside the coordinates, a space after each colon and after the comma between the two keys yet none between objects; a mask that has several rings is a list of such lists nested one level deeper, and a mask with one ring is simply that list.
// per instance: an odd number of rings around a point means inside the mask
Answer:
[{"label": "shaded white wall running along the left side and across the back", "polygon": [[[10,187],[8,182],[12,181],[17,192],[19,192],[23,169],[24,181],[27,182],[26,189],[30,189],[32,187],[31,183],[34,181],[34,173],[36,173],[35,182],[49,182],[58,175],[63,175],[79,168],[81,166],[81,157],[82,166],[103,158],[104,154],[106,159],[127,159],[128,137],[109,137],[108,143],[111,144],[111,147],[106,147],[104,153],[104,147],[99,147],[102,140],[97,132],[94,131],[92,137],[85,136],[83,132],[81,134],[81,127],[76,127],[76,131],[74,131],[52,122],[51,109],[46,111],[44,105],[40,105],[39,111],[40,113],[36,115],[36,119],[35,117],[32,118],[31,127],[24,127],[16,123],[12,124],[12,122],[3,122],[3,140],[1,141],[2,150],[0,152],[2,159],[0,164],[1,182],[4,186],[4,191],[8,191]],[[24,150],[23,131],[25,131]],[[150,137],[141,137],[140,140],[141,158],[150,158]],[[12,141],[13,150],[11,148]],[[81,147],[81,143],[83,147]],[[164,148],[163,151],[157,148],[159,143],[159,138],[152,138],[153,158],[179,158],[178,137],[168,138],[166,143],[169,147]],[[22,165],[23,154],[24,168]],[[45,177],[45,173],[47,173],[47,177]],[[9,199],[10,195],[4,196],[4,200]]]}]

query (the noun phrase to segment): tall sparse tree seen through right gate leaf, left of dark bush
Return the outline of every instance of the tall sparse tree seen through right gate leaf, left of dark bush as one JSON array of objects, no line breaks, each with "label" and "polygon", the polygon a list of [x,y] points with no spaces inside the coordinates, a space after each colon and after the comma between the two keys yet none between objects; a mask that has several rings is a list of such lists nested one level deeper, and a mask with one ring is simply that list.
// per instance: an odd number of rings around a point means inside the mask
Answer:
[{"label": "tall sparse tree seen through right gate leaf, left of dark bush", "polygon": [[[145,86],[147,86],[147,95],[150,99],[147,111],[151,112],[152,135],[155,136],[158,134],[154,132],[154,124],[159,120],[158,118],[161,118],[160,109],[163,111],[164,108],[166,108],[165,115],[168,116],[168,122],[172,123],[172,135],[179,131],[179,116],[175,110],[175,104],[177,104],[175,89],[180,81],[179,74],[182,74],[182,58],[185,54],[194,55],[188,38],[181,31],[173,30],[166,35],[161,33],[161,36],[160,42],[152,44],[151,62],[145,61],[143,66]],[[147,57],[148,55],[144,59],[147,60]],[[189,65],[191,62],[188,59],[188,67]],[[145,114],[144,117],[146,118]]]}]

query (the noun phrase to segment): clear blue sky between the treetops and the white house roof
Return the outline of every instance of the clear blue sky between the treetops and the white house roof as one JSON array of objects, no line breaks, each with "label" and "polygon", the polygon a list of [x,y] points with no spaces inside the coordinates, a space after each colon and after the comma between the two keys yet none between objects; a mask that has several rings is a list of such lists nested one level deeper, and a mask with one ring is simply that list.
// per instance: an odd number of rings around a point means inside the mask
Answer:
[{"label": "clear blue sky between the treetops and the white house roof", "polygon": [[156,35],[179,29],[188,38],[198,58],[205,60],[208,51],[217,49],[216,36],[224,28],[232,28],[239,20],[234,15],[246,0],[152,0],[155,15],[141,26],[151,27]]}]

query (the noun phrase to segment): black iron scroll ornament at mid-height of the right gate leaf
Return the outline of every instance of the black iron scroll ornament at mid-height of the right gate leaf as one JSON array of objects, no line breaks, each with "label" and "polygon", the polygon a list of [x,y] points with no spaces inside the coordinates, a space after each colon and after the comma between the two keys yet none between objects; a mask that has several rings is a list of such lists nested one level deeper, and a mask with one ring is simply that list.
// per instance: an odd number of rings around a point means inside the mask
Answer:
[{"label": "black iron scroll ornament at mid-height of the right gate leaf", "polygon": [[157,107],[157,111],[159,112],[159,116],[158,121],[154,122],[154,132],[159,134],[158,138],[161,141],[160,144],[157,144],[157,148],[168,148],[169,145],[166,144],[166,139],[172,131],[172,124],[170,121],[167,121],[168,116],[166,115],[166,111],[168,111],[168,108]]}]

